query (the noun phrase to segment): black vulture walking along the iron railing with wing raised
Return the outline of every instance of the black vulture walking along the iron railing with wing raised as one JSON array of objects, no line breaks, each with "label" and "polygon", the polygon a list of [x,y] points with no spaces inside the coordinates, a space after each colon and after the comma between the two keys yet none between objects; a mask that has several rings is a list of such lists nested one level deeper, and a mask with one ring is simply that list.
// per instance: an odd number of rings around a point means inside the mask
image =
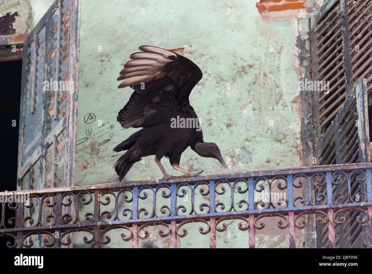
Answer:
[{"label": "black vulture walking along the iron railing with wing raised", "polygon": [[[140,50],[130,56],[132,60],[124,65],[118,78],[125,80],[119,89],[129,86],[134,92],[119,111],[117,121],[123,128],[142,128],[113,149],[126,150],[114,165],[119,180],[134,163],[149,155],[155,155],[163,179],[198,176],[203,171],[192,174],[179,166],[187,147],[225,166],[217,144],[203,141],[198,116],[190,106],[190,92],[203,76],[200,68],[186,57],[163,48],[141,46]],[[169,175],[160,163],[164,156],[175,170],[186,175]]]}]

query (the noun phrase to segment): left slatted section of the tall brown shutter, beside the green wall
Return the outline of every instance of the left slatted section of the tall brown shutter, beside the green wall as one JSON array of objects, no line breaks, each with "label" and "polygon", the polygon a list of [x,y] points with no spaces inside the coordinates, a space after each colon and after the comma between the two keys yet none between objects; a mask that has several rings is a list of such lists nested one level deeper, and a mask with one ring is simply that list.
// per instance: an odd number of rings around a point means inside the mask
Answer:
[{"label": "left slatted section of the tall brown shutter, beside the green wall", "polygon": [[[333,3],[334,2],[334,3]],[[327,1],[311,18],[312,80],[329,81],[330,90],[314,92],[313,115],[324,132],[346,96],[344,43],[339,1]]]}]

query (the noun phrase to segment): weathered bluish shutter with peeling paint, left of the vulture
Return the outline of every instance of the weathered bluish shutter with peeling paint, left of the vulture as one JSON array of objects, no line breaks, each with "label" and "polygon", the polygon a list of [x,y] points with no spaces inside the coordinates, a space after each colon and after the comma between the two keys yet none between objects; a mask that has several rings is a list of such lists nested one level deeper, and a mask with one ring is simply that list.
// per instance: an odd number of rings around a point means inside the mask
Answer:
[{"label": "weathered bluish shutter with peeling paint, left of the vulture", "polygon": [[73,184],[77,55],[78,1],[57,0],[24,41],[18,189]]}]

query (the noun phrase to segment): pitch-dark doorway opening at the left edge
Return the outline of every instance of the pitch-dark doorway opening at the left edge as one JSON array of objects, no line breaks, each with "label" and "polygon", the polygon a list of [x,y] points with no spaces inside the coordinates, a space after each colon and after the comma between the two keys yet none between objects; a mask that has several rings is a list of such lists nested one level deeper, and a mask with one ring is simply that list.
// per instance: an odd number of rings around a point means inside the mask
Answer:
[{"label": "pitch-dark doorway opening at the left edge", "polygon": [[[17,189],[17,160],[19,135],[19,109],[22,79],[22,60],[0,62],[1,100],[0,114],[3,121],[1,132],[1,173],[0,192]],[[14,126],[15,125],[15,126]],[[0,207],[0,211],[1,211]],[[2,214],[3,212],[1,212]],[[8,220],[15,217],[15,210],[10,210],[6,204],[4,226],[13,228]],[[13,238],[0,237],[0,248],[6,248],[6,243],[14,244]]]}]

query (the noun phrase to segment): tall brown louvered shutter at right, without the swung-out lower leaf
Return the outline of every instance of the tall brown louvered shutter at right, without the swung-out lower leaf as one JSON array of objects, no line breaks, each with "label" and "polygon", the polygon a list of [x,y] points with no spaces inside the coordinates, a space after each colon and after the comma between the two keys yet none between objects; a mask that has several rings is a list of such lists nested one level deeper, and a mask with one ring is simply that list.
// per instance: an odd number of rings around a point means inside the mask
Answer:
[{"label": "tall brown louvered shutter at right, without the swung-out lower leaf", "polygon": [[329,92],[313,93],[317,139],[323,137],[357,80],[366,78],[371,96],[371,37],[372,0],[328,0],[311,17],[312,80],[330,83]]}]

